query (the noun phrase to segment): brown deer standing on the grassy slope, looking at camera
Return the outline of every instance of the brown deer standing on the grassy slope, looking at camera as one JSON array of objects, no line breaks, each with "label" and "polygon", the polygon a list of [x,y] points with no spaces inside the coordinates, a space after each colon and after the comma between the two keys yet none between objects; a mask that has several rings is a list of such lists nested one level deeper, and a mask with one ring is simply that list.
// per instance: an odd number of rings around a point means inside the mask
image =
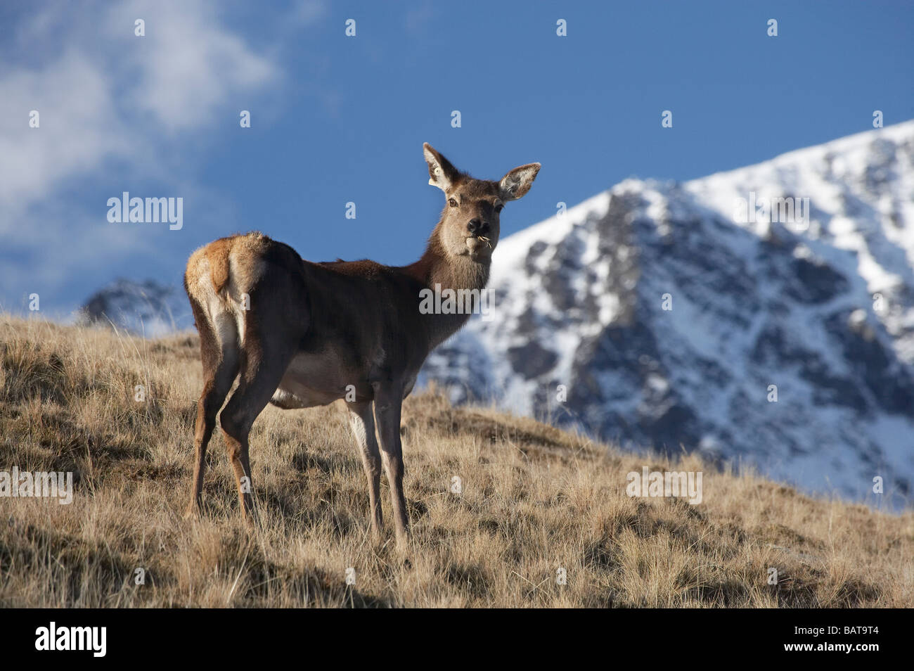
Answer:
[{"label": "brown deer standing on the grassy slope, looking at camera", "polygon": [[249,434],[260,412],[268,404],[292,410],[345,399],[367,478],[372,538],[382,539],[383,462],[396,545],[406,547],[402,402],[431,350],[470,317],[469,311],[420,310],[420,295],[441,288],[484,290],[502,208],[529,191],[540,168],[530,163],[500,180],[480,180],[459,172],[430,144],[422,150],[429,184],[444,192],[445,202],[419,261],[305,261],[259,231],[214,240],[191,254],[184,284],[200,336],[203,389],[186,518],[202,506],[207,444],[217,415],[241,517],[250,526],[255,511]]}]

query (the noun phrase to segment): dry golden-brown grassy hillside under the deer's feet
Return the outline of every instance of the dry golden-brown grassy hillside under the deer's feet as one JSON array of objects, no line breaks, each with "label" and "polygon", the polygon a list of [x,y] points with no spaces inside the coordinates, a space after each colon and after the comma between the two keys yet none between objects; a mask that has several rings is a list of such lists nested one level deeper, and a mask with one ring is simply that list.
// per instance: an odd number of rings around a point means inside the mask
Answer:
[{"label": "dry golden-brown grassy hillside under the deer's feet", "polygon": [[[435,394],[404,410],[406,559],[392,539],[370,541],[342,401],[268,408],[254,425],[260,527],[240,523],[221,436],[205,513],[185,521],[197,356],[196,335],[0,316],[0,471],[76,481],[69,506],[0,497],[0,606],[914,606],[912,513],[814,500],[693,457],[645,462]],[[625,475],[644,465],[703,471],[704,501],[630,498]],[[382,496],[390,534],[386,484]]]}]

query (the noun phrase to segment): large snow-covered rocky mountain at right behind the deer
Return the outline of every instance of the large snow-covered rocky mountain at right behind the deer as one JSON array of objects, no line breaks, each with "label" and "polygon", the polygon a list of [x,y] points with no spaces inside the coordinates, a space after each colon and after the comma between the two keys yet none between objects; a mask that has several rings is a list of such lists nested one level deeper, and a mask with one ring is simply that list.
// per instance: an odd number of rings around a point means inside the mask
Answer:
[{"label": "large snow-covered rocky mountain at right behind the deer", "polygon": [[910,501],[914,122],[626,180],[502,240],[490,286],[423,369],[452,399]]}]

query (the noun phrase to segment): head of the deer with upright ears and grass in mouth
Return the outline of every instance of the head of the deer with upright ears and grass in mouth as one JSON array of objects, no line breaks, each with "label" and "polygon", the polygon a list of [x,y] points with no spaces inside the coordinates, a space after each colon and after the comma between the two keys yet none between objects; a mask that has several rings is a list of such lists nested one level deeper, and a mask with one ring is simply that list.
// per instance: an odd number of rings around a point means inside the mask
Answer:
[{"label": "head of the deer with upright ears and grass in mouth", "polygon": [[422,145],[429,184],[444,192],[439,240],[449,256],[488,263],[498,244],[499,216],[505,203],[524,196],[539,172],[538,163],[515,167],[498,181],[473,179],[444,156]]}]

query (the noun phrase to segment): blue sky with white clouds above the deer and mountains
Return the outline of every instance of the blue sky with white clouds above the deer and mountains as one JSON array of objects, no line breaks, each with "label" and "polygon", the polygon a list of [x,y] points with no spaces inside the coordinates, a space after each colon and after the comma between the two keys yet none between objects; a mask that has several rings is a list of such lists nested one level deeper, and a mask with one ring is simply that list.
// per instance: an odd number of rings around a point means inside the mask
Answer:
[{"label": "blue sky with white clouds above the deer and mountains", "polygon": [[[413,261],[443,205],[423,142],[479,177],[542,163],[504,236],[628,176],[685,180],[871,129],[874,110],[914,117],[911,3],[74,7],[0,8],[0,308],[16,314],[38,293],[65,316],[119,276],[177,285],[197,246],[249,229],[314,261]],[[109,223],[123,191],[183,197],[183,228]]]}]

